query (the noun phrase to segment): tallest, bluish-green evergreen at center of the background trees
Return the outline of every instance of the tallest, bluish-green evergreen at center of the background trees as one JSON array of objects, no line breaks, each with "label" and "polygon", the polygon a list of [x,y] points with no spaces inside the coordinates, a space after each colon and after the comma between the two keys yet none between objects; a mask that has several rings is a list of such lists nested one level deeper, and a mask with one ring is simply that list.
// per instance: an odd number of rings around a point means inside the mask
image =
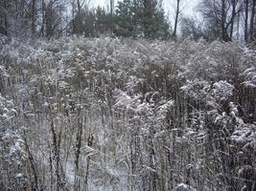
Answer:
[{"label": "tallest, bluish-green evergreen at center of the background trees", "polygon": [[157,1],[125,0],[116,10],[115,34],[166,39],[170,36],[169,24]]}]

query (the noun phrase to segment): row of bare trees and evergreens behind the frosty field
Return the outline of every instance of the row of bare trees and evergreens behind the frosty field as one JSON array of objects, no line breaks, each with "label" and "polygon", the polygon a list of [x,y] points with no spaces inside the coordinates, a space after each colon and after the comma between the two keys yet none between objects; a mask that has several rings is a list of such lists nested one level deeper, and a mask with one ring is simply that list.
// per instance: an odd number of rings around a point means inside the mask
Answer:
[{"label": "row of bare trees and evergreens behind the frosty field", "polygon": [[170,20],[161,0],[108,0],[107,9],[95,9],[88,0],[2,0],[0,33],[48,38],[108,34],[150,39],[178,35],[210,41],[255,40],[256,0],[200,0],[198,18],[183,14],[184,0],[174,3],[174,20]]}]

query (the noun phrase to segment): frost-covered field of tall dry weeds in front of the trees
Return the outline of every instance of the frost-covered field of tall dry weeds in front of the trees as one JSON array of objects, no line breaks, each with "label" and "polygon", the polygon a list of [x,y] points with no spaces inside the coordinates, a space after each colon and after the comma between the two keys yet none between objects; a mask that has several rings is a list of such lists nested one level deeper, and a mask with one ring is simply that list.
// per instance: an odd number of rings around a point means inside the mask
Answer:
[{"label": "frost-covered field of tall dry weeds in front of the trees", "polygon": [[255,188],[253,49],[109,37],[0,49],[1,190]]}]

